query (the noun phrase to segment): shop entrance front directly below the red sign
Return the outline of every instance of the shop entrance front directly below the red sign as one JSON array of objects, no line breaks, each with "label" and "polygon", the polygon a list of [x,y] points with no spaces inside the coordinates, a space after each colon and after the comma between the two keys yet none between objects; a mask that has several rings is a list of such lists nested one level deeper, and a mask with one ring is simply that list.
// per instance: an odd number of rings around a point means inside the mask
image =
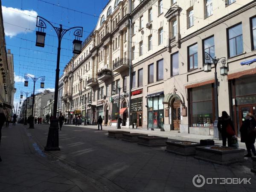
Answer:
[{"label": "shop entrance front directly below the red sign", "polygon": [[131,125],[142,127],[143,123],[143,97],[131,99]]}]

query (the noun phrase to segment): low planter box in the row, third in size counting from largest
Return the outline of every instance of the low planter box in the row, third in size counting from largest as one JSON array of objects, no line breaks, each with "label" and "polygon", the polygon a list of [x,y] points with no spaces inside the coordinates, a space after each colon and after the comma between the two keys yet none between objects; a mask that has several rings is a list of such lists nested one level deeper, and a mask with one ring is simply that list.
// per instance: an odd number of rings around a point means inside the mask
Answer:
[{"label": "low planter box in the row, third in size counting from largest", "polygon": [[146,145],[149,147],[153,146],[166,146],[167,137],[158,136],[138,136],[138,144]]}]

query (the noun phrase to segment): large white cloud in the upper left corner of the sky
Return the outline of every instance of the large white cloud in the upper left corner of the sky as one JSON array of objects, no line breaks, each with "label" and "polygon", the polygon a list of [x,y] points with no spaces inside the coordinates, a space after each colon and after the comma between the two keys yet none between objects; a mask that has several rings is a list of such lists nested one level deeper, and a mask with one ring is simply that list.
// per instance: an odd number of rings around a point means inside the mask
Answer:
[{"label": "large white cloud in the upper left corner of the sky", "polygon": [[36,17],[38,15],[37,12],[5,6],[2,6],[2,10],[4,32],[6,36],[12,37],[19,33],[32,32],[31,30],[35,29]]}]

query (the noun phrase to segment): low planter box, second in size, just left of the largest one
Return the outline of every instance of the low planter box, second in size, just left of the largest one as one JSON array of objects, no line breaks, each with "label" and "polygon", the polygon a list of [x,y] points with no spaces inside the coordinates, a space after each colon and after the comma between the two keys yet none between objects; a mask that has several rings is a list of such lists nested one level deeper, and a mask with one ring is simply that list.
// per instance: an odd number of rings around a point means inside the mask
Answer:
[{"label": "low planter box, second in size, just left of the largest one", "polygon": [[190,141],[167,141],[166,145],[166,151],[188,156],[195,154],[195,147],[200,146],[200,143]]}]

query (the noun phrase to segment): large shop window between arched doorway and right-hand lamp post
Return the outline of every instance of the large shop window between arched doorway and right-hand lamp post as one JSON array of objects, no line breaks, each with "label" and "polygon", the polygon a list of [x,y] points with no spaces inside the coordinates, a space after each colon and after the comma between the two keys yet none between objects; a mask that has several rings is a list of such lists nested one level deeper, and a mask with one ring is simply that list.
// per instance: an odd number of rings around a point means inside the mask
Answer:
[{"label": "large shop window between arched doorway and right-hand lamp post", "polygon": [[213,126],[213,87],[212,84],[190,89],[190,122],[193,127]]}]

